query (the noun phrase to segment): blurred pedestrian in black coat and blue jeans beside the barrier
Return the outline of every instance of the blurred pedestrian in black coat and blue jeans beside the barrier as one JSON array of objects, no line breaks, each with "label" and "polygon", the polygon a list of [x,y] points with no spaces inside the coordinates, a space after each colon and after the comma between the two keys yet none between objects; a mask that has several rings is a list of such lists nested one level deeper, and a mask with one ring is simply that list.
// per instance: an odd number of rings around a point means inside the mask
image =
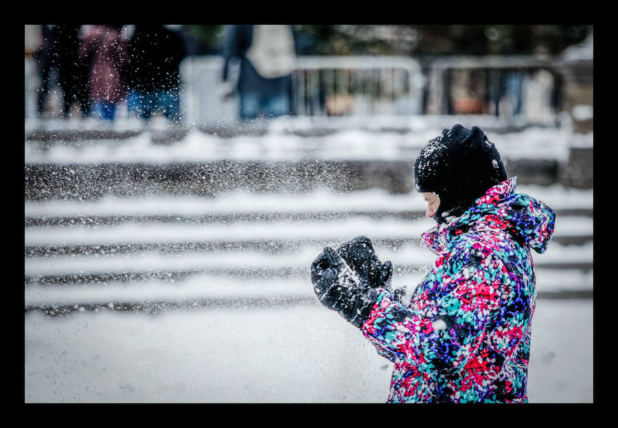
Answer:
[{"label": "blurred pedestrian in black coat and blue jeans beside the barrier", "polygon": [[135,25],[128,40],[131,58],[126,72],[130,114],[150,119],[156,112],[179,121],[180,64],[185,43],[174,25]]}]

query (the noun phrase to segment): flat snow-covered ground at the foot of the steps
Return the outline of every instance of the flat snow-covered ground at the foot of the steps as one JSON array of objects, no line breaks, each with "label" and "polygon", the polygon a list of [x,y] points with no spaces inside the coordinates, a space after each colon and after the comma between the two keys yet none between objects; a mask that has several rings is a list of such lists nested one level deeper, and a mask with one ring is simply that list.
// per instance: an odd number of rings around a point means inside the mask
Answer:
[{"label": "flat snow-covered ground at the foot of the steps", "polygon": [[[540,300],[531,403],[593,402],[592,300]],[[383,403],[392,364],[319,305],[25,318],[26,403]]]}]

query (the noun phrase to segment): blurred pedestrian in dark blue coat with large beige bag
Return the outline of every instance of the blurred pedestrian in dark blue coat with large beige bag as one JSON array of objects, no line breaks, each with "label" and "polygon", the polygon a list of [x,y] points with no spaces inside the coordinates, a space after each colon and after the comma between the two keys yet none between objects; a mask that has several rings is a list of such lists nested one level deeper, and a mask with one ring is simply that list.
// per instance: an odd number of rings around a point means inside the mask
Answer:
[{"label": "blurred pedestrian in dark blue coat with large beige bag", "polygon": [[292,112],[295,34],[291,25],[228,25],[223,46],[222,80],[233,91],[229,67],[240,60],[238,91],[242,121],[279,117]]}]

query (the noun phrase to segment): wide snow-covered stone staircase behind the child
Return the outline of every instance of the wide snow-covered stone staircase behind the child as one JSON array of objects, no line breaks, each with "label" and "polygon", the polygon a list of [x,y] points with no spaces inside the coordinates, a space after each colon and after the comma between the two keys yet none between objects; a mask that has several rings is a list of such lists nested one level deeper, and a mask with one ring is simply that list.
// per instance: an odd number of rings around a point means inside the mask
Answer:
[{"label": "wide snow-covered stone staircase behind the child", "polygon": [[[412,165],[446,123],[332,123],[26,126],[26,313],[313,305],[310,263],[358,235],[410,293],[434,259],[420,247],[433,220]],[[517,191],[558,215],[534,256],[539,298],[592,298],[591,182],[562,185],[568,150],[547,143],[564,141],[560,130],[494,131],[514,132],[499,139]]]}]

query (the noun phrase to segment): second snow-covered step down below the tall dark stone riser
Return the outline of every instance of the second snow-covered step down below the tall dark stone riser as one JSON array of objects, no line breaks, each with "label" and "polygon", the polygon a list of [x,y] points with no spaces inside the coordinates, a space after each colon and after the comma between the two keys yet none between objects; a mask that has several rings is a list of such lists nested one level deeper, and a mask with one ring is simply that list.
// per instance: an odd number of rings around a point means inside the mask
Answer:
[{"label": "second snow-covered step down below the tall dark stone riser", "polygon": [[[26,247],[113,246],[200,243],[205,241],[269,241],[331,239],[346,241],[358,235],[371,239],[417,239],[435,223],[422,217],[413,221],[364,216],[329,221],[231,222],[227,224],[114,224],[109,226],[29,226],[25,228]],[[590,217],[562,217],[554,236],[592,236]]]}]

